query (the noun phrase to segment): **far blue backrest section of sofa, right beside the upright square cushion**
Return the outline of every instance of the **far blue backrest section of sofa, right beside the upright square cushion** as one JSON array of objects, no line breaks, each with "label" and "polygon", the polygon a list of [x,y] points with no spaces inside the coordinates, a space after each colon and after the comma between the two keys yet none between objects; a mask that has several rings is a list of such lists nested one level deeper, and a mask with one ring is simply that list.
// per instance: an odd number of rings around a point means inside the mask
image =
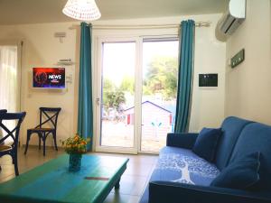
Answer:
[{"label": "far blue backrest section of sofa, right beside the upright square cushion", "polygon": [[223,121],[221,125],[223,134],[221,135],[218,143],[215,160],[215,164],[220,171],[228,165],[229,158],[238,140],[238,136],[243,128],[250,123],[252,123],[252,121],[234,116],[229,116]]}]

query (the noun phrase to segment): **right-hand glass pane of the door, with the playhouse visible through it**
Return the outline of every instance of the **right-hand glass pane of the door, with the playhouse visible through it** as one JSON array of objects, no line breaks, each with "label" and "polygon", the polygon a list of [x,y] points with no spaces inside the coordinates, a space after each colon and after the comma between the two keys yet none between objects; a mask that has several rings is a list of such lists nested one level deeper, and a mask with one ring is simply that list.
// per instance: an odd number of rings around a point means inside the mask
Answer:
[{"label": "right-hand glass pane of the door, with the playhouse visible through it", "polygon": [[173,132],[177,96],[179,42],[145,39],[143,42],[142,152],[159,152],[166,134]]}]

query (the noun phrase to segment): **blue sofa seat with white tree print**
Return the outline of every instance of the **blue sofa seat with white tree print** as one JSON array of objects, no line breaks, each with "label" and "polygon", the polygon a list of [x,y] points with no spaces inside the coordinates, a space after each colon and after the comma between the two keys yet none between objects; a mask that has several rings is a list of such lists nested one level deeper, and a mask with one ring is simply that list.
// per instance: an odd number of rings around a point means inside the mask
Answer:
[{"label": "blue sofa seat with white tree print", "polygon": [[201,159],[191,150],[164,147],[151,181],[166,180],[209,186],[219,174],[220,171],[214,164]]}]

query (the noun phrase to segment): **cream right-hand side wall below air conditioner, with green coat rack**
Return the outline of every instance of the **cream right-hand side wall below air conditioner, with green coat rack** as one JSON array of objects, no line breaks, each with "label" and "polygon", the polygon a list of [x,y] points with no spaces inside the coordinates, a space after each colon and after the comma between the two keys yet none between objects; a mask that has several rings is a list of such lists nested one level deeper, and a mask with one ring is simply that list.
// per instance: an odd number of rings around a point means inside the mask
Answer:
[{"label": "cream right-hand side wall below air conditioner, with green coat rack", "polygon": [[247,18],[227,42],[227,59],[245,48],[245,61],[227,67],[226,115],[271,125],[271,2],[248,0]]}]

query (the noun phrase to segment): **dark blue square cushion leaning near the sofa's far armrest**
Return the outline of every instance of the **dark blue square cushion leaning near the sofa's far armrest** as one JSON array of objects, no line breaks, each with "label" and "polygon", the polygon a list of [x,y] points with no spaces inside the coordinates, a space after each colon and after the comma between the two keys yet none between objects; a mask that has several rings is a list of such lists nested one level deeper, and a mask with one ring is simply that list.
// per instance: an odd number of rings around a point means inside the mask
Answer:
[{"label": "dark blue square cushion leaning near the sofa's far armrest", "polygon": [[198,135],[192,151],[207,161],[214,161],[217,144],[221,134],[222,131],[220,128],[204,127]]}]

